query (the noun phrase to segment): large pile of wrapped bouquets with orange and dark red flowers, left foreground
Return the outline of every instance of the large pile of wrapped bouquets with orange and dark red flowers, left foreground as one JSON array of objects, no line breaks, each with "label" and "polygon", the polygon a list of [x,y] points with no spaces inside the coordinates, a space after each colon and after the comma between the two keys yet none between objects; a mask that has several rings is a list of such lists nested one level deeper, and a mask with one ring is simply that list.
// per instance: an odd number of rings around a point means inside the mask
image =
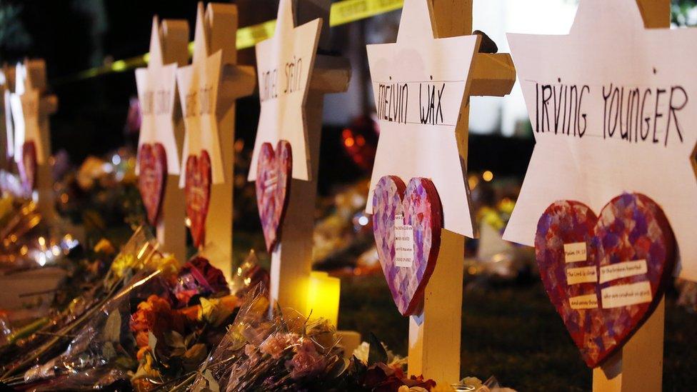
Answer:
[{"label": "large pile of wrapped bouquets with orange and dark red flowers, left foreground", "polygon": [[[110,273],[130,273],[132,263],[116,258]],[[240,271],[261,276],[255,268]],[[246,283],[256,283],[244,276]],[[114,384],[136,391],[166,388],[201,366],[240,303],[223,273],[205,258],[192,258],[179,268],[174,258],[155,252],[75,330],[65,351],[4,381],[32,391]]]}]

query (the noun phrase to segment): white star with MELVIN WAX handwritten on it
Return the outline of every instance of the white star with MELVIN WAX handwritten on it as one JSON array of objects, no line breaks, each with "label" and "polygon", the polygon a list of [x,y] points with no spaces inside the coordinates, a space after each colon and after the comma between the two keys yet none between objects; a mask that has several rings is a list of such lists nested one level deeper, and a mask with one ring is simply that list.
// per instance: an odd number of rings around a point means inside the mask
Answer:
[{"label": "white star with MELVIN WAX handwritten on it", "polygon": [[382,176],[396,175],[405,183],[426,177],[441,198],[443,228],[473,237],[456,128],[478,37],[435,39],[430,4],[404,1],[397,42],[368,45],[380,139],[367,211],[372,213],[373,190]]}]

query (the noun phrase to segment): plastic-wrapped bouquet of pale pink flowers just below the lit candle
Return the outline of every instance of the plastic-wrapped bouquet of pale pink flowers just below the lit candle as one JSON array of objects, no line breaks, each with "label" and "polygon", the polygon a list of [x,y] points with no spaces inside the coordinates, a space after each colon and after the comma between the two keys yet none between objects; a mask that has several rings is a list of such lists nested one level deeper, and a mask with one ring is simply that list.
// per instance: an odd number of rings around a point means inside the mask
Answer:
[{"label": "plastic-wrapped bouquet of pale pink flowers just below the lit candle", "polygon": [[269,315],[269,299],[259,285],[247,294],[191,390],[327,391],[348,365],[335,332],[326,321],[308,322],[291,309]]}]

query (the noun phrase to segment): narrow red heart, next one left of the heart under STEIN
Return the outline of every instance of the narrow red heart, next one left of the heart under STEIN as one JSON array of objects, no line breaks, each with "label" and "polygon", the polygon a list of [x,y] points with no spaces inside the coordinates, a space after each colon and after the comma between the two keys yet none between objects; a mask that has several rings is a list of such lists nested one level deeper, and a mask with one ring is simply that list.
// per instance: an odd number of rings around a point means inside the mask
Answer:
[{"label": "narrow red heart, next one left of the heart under STEIN", "polygon": [[201,151],[199,157],[190,155],[186,159],[184,198],[191,238],[198,248],[206,239],[206,216],[211,201],[211,158],[206,151]]}]

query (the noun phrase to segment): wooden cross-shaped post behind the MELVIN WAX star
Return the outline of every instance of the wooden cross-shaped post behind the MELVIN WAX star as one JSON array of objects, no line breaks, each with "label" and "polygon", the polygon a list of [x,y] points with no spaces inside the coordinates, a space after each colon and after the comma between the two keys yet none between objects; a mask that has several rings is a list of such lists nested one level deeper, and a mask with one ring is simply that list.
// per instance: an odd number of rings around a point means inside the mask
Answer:
[{"label": "wooden cross-shaped post behind the MELVIN WAX star", "polygon": [[[471,0],[429,1],[433,4],[431,20],[437,38],[471,34]],[[504,96],[516,81],[508,54],[476,54],[469,75],[466,96]],[[456,129],[465,164],[468,119],[466,98]],[[460,380],[463,258],[464,237],[443,230],[436,268],[423,295],[423,311],[409,318],[408,373],[435,380],[438,390],[450,390],[451,383]]]}]

